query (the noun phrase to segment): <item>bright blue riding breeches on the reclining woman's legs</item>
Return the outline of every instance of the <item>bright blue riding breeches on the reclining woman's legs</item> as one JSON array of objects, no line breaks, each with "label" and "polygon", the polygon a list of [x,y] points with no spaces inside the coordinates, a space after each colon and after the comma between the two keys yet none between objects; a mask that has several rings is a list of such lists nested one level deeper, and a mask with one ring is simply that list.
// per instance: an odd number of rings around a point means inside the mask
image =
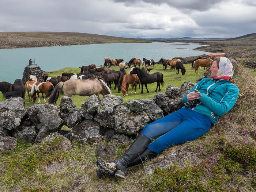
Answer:
[{"label": "bright blue riding breeches on the reclining woman's legs", "polygon": [[211,121],[206,116],[187,108],[181,108],[153,123],[147,124],[141,134],[151,141],[148,149],[159,154],[162,150],[186,141],[192,141],[206,134]]}]

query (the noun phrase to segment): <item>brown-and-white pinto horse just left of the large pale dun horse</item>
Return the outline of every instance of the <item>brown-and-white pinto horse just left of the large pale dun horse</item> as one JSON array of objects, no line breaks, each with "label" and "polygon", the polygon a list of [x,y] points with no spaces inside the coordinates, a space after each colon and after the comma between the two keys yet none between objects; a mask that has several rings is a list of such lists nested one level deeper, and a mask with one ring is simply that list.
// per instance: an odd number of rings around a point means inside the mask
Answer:
[{"label": "brown-and-white pinto horse just left of the large pale dun horse", "polygon": [[54,89],[53,84],[50,81],[47,81],[47,82],[36,81],[31,88],[31,98],[33,102],[35,103],[35,100],[38,97],[38,103],[41,103],[39,93],[42,93],[42,97],[46,103],[44,94],[46,95],[46,97],[49,97],[53,89]]}]

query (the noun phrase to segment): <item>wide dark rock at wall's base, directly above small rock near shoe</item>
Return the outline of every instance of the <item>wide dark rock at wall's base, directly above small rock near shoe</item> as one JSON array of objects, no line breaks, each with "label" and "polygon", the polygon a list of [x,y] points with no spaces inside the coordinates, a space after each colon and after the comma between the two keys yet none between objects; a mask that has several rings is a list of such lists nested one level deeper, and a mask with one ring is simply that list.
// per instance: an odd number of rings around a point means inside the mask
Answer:
[{"label": "wide dark rock at wall's base, directly above small rock near shoe", "polygon": [[99,134],[99,130],[99,123],[93,120],[82,120],[66,135],[66,137],[70,141],[94,144],[102,141],[102,136]]}]

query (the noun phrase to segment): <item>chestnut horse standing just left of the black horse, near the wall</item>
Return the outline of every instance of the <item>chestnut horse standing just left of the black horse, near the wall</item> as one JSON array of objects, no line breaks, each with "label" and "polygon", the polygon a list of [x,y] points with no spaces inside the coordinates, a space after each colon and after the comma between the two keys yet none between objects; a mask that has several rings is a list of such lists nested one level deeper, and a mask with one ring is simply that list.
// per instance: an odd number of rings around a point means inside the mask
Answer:
[{"label": "chestnut horse standing just left of the black horse, near the wall", "polygon": [[121,87],[121,90],[123,92],[123,97],[125,97],[125,95],[128,95],[129,84],[132,84],[132,92],[133,92],[133,87],[135,86],[135,93],[136,93],[137,85],[140,84],[140,79],[137,76],[137,74],[132,74],[132,75],[124,74],[122,87]]}]

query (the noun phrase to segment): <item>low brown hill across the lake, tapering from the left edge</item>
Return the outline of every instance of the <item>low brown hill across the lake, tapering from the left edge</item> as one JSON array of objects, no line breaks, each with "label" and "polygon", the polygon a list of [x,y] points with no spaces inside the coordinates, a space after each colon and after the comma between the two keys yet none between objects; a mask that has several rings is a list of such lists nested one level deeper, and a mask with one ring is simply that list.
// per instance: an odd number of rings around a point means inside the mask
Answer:
[{"label": "low brown hill across the lake, tapering from the left edge", "polygon": [[152,41],[77,32],[0,32],[0,42],[0,49],[10,49],[96,43],[140,43]]}]

